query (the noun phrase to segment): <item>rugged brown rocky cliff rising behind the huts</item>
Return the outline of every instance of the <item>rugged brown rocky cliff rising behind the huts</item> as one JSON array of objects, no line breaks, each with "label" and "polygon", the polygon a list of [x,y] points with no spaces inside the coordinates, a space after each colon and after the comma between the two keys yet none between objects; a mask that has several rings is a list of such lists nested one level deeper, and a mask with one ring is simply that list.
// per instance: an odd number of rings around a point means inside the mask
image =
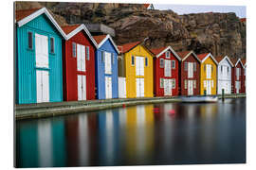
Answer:
[{"label": "rugged brown rocky cliff rising behind the huts", "polygon": [[102,23],[113,27],[118,44],[145,41],[148,47],[172,45],[176,51],[246,57],[246,25],[235,13],[177,15],[172,10],[148,10],[141,4],[38,4],[61,16],[62,25]]}]

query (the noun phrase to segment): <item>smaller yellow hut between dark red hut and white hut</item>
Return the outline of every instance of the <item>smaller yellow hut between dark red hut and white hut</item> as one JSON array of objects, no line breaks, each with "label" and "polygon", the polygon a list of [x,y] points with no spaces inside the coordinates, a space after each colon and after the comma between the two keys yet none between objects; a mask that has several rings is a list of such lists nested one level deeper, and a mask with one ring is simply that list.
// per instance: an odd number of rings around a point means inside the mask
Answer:
[{"label": "smaller yellow hut between dark red hut and white hut", "polygon": [[200,94],[214,95],[217,92],[217,64],[210,53],[197,55],[200,63]]}]

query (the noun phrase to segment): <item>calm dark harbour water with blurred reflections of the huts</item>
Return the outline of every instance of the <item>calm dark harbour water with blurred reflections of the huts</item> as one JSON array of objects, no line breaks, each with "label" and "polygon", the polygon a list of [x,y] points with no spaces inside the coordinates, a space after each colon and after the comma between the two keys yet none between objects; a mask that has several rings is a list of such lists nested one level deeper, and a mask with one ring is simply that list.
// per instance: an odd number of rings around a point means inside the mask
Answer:
[{"label": "calm dark harbour water with blurred reflections of the huts", "polygon": [[246,99],[16,122],[16,166],[246,162]]}]

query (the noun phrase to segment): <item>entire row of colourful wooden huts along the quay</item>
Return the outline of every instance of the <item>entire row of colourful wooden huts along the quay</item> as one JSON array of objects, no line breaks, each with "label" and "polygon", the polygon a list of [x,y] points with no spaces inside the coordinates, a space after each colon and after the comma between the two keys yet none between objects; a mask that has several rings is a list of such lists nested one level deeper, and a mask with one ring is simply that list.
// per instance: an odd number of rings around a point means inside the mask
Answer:
[{"label": "entire row of colourful wooden huts along the quay", "polygon": [[59,26],[46,8],[16,10],[16,103],[246,93],[246,61],[117,45],[86,26]]}]

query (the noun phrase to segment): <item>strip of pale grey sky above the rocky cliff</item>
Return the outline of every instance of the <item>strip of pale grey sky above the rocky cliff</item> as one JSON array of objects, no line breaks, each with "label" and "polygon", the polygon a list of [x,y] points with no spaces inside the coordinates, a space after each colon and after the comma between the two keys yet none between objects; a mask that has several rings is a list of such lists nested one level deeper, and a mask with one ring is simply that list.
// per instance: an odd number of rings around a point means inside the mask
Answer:
[{"label": "strip of pale grey sky above the rocky cliff", "polygon": [[246,18],[246,6],[195,6],[195,5],[164,5],[154,4],[156,9],[172,9],[177,14],[199,13],[199,12],[235,12],[240,18]]}]

